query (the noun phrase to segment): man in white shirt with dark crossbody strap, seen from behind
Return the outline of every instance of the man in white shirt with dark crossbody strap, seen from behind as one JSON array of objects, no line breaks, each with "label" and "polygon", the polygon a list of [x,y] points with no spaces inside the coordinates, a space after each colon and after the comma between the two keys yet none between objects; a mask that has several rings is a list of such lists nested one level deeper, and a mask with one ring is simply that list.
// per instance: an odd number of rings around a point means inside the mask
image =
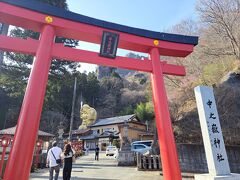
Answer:
[{"label": "man in white shirt with dark crossbody strap, seen from behind", "polygon": [[49,167],[49,180],[53,180],[54,171],[55,171],[54,180],[57,180],[60,171],[59,161],[61,162],[62,149],[57,147],[56,141],[54,141],[52,145],[53,147],[48,151],[46,164]]}]

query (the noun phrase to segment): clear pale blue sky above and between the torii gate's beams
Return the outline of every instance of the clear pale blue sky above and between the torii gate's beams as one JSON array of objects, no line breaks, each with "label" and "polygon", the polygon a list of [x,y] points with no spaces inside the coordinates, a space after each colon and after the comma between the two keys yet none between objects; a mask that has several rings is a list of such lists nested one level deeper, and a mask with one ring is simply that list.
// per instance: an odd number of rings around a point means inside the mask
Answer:
[{"label": "clear pale blue sky above and between the torii gate's beams", "polygon": [[[196,19],[196,0],[67,0],[69,10],[122,25],[165,32],[184,19]],[[99,52],[99,46],[80,43]],[[120,51],[121,55],[124,51]],[[92,71],[95,66],[82,65]]]}]

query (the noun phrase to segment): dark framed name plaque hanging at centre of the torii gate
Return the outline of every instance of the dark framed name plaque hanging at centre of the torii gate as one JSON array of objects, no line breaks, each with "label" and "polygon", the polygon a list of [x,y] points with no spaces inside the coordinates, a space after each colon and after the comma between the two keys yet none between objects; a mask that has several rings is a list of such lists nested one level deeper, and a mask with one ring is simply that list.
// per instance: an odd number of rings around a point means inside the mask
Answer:
[{"label": "dark framed name plaque hanging at centre of the torii gate", "polygon": [[112,32],[103,31],[100,56],[116,58],[119,35]]}]

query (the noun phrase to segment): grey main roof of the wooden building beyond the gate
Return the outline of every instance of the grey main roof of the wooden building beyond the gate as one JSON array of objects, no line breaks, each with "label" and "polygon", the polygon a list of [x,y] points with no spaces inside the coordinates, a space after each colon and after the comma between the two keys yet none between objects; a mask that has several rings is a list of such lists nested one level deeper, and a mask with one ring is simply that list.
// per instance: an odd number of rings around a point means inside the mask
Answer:
[{"label": "grey main roof of the wooden building beyond the gate", "polygon": [[[135,118],[135,114],[111,117],[111,118],[106,118],[106,119],[98,119],[90,127],[105,126],[105,125],[111,125],[111,124],[122,124],[125,121],[131,122],[131,121],[133,121],[134,118]],[[137,121],[135,121],[135,122],[137,122]]]}]

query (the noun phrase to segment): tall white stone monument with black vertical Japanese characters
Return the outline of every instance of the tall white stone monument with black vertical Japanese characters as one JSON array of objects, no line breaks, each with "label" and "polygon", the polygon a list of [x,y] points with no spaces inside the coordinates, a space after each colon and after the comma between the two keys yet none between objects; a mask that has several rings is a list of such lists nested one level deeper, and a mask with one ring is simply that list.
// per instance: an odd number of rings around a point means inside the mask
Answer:
[{"label": "tall white stone monument with black vertical Japanese characters", "polygon": [[209,174],[195,175],[196,180],[240,180],[230,172],[213,89],[198,86],[194,89],[202,130]]}]

